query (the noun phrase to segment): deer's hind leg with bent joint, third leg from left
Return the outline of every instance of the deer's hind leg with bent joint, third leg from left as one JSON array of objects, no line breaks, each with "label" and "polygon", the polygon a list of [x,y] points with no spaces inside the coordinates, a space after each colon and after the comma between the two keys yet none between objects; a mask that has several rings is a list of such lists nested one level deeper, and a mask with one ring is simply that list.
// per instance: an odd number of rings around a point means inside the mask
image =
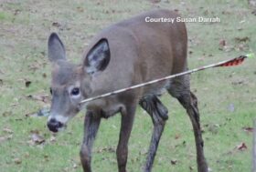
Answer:
[{"label": "deer's hind leg with bent joint, third leg from left", "polygon": [[142,106],[144,110],[151,116],[154,124],[153,135],[144,167],[145,172],[150,172],[154,163],[158,143],[165,128],[165,120],[168,119],[168,110],[157,98],[157,96],[154,95],[142,98],[140,100],[140,106]]}]

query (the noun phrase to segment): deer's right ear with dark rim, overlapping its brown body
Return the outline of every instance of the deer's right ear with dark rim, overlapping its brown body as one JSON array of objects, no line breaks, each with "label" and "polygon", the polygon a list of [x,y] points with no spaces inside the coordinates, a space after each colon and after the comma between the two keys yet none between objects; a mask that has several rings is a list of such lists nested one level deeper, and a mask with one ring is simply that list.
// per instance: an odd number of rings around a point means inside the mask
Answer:
[{"label": "deer's right ear with dark rim, overlapping its brown body", "polygon": [[84,60],[85,71],[88,74],[94,74],[103,71],[110,62],[111,51],[108,40],[102,38],[95,46],[91,48]]}]

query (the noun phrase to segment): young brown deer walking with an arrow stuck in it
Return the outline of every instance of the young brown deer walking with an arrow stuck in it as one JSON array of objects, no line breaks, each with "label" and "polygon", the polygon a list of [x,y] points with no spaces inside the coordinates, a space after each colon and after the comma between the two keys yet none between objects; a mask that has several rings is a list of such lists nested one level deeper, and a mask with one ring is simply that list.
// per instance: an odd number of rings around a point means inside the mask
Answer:
[{"label": "young brown deer walking with an arrow stuck in it", "polygon": [[66,58],[65,46],[56,33],[48,37],[48,59],[52,64],[51,106],[48,129],[58,132],[81,109],[86,109],[80,161],[84,172],[91,172],[91,150],[101,119],[121,115],[116,148],[119,172],[127,172],[128,142],[137,106],[151,117],[153,134],[144,172],[152,171],[156,150],[168,119],[160,96],[166,90],[187,110],[196,142],[197,171],[207,172],[204,142],[197,108],[197,96],[190,90],[189,76],[179,76],[150,86],[80,104],[99,96],[155,78],[187,71],[187,28],[185,23],[146,22],[145,17],[176,18],[175,11],[157,9],[104,28],[84,50],[82,62],[75,65]]}]

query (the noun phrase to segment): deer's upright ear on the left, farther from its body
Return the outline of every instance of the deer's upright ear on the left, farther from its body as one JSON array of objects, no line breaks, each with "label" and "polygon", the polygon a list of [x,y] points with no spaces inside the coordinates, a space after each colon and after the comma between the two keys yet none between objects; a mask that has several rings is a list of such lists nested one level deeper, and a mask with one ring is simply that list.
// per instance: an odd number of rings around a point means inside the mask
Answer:
[{"label": "deer's upright ear on the left, farther from its body", "polygon": [[56,33],[51,33],[48,37],[48,59],[51,62],[66,59],[65,47]]}]

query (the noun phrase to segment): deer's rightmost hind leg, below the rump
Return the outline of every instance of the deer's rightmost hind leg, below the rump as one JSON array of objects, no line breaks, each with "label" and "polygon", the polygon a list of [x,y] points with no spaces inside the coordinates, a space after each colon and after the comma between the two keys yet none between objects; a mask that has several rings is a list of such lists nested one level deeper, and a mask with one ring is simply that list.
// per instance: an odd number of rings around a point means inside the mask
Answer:
[{"label": "deer's rightmost hind leg, below the rump", "polygon": [[197,96],[189,88],[189,76],[178,77],[172,81],[171,87],[167,89],[170,95],[177,98],[179,103],[187,110],[196,141],[197,148],[197,171],[208,172],[208,165],[204,155],[204,141],[200,127],[200,116],[197,108]]}]

